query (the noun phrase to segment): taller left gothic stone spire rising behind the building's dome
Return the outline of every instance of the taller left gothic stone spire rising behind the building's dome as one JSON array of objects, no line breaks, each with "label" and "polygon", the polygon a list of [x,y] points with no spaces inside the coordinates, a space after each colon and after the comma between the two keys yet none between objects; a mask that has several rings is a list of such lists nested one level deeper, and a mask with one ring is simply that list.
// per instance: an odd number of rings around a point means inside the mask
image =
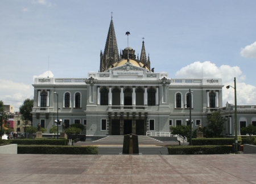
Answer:
[{"label": "taller left gothic stone spire rising behind the building's dome", "polygon": [[108,37],[106,39],[106,45],[103,55],[101,54],[100,61],[100,72],[108,70],[114,62],[119,60],[118,48],[117,48],[117,38],[115,37],[115,29],[111,16],[111,22],[109,25]]}]

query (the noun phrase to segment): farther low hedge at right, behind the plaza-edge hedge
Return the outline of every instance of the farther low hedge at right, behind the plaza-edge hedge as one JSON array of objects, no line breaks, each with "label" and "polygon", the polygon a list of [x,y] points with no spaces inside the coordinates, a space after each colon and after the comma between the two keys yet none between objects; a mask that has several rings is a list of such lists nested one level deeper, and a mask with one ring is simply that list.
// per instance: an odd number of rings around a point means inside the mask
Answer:
[{"label": "farther low hedge at right, behind the plaza-edge hedge", "polygon": [[234,143],[234,138],[197,138],[197,139],[192,139],[193,146],[231,145],[233,143]]}]

